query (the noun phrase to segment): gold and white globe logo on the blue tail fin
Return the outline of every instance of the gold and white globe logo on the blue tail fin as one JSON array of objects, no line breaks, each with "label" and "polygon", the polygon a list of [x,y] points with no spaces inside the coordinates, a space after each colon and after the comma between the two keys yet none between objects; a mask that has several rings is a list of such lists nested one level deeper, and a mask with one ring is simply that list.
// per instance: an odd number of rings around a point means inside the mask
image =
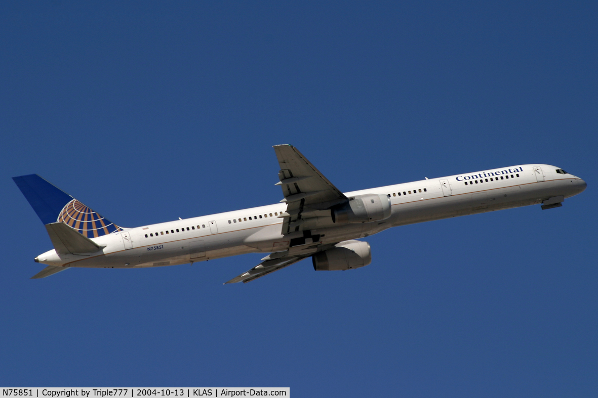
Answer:
[{"label": "gold and white globe logo on the blue tail fin", "polygon": [[88,238],[97,238],[123,230],[77,199],[71,200],[63,207],[56,222],[63,222]]}]

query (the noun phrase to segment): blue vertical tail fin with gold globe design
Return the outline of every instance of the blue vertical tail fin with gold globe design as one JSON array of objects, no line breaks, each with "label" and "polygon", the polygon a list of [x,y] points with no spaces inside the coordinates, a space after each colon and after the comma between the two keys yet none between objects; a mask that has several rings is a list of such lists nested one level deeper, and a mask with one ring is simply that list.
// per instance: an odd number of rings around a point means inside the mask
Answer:
[{"label": "blue vertical tail fin with gold globe design", "polygon": [[13,177],[41,222],[63,222],[87,238],[96,238],[122,229],[83,203],[61,191],[37,174]]}]

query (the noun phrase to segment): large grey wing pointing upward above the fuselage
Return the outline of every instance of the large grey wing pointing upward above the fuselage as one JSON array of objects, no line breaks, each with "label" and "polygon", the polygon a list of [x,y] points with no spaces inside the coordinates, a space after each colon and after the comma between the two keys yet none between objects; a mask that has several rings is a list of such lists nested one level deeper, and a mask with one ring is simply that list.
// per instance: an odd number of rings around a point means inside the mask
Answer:
[{"label": "large grey wing pointing upward above the fuselage", "polygon": [[283,213],[282,234],[301,231],[303,219],[327,210],[347,197],[292,145],[275,145],[280,165],[278,177],[282,186],[286,213]]}]

